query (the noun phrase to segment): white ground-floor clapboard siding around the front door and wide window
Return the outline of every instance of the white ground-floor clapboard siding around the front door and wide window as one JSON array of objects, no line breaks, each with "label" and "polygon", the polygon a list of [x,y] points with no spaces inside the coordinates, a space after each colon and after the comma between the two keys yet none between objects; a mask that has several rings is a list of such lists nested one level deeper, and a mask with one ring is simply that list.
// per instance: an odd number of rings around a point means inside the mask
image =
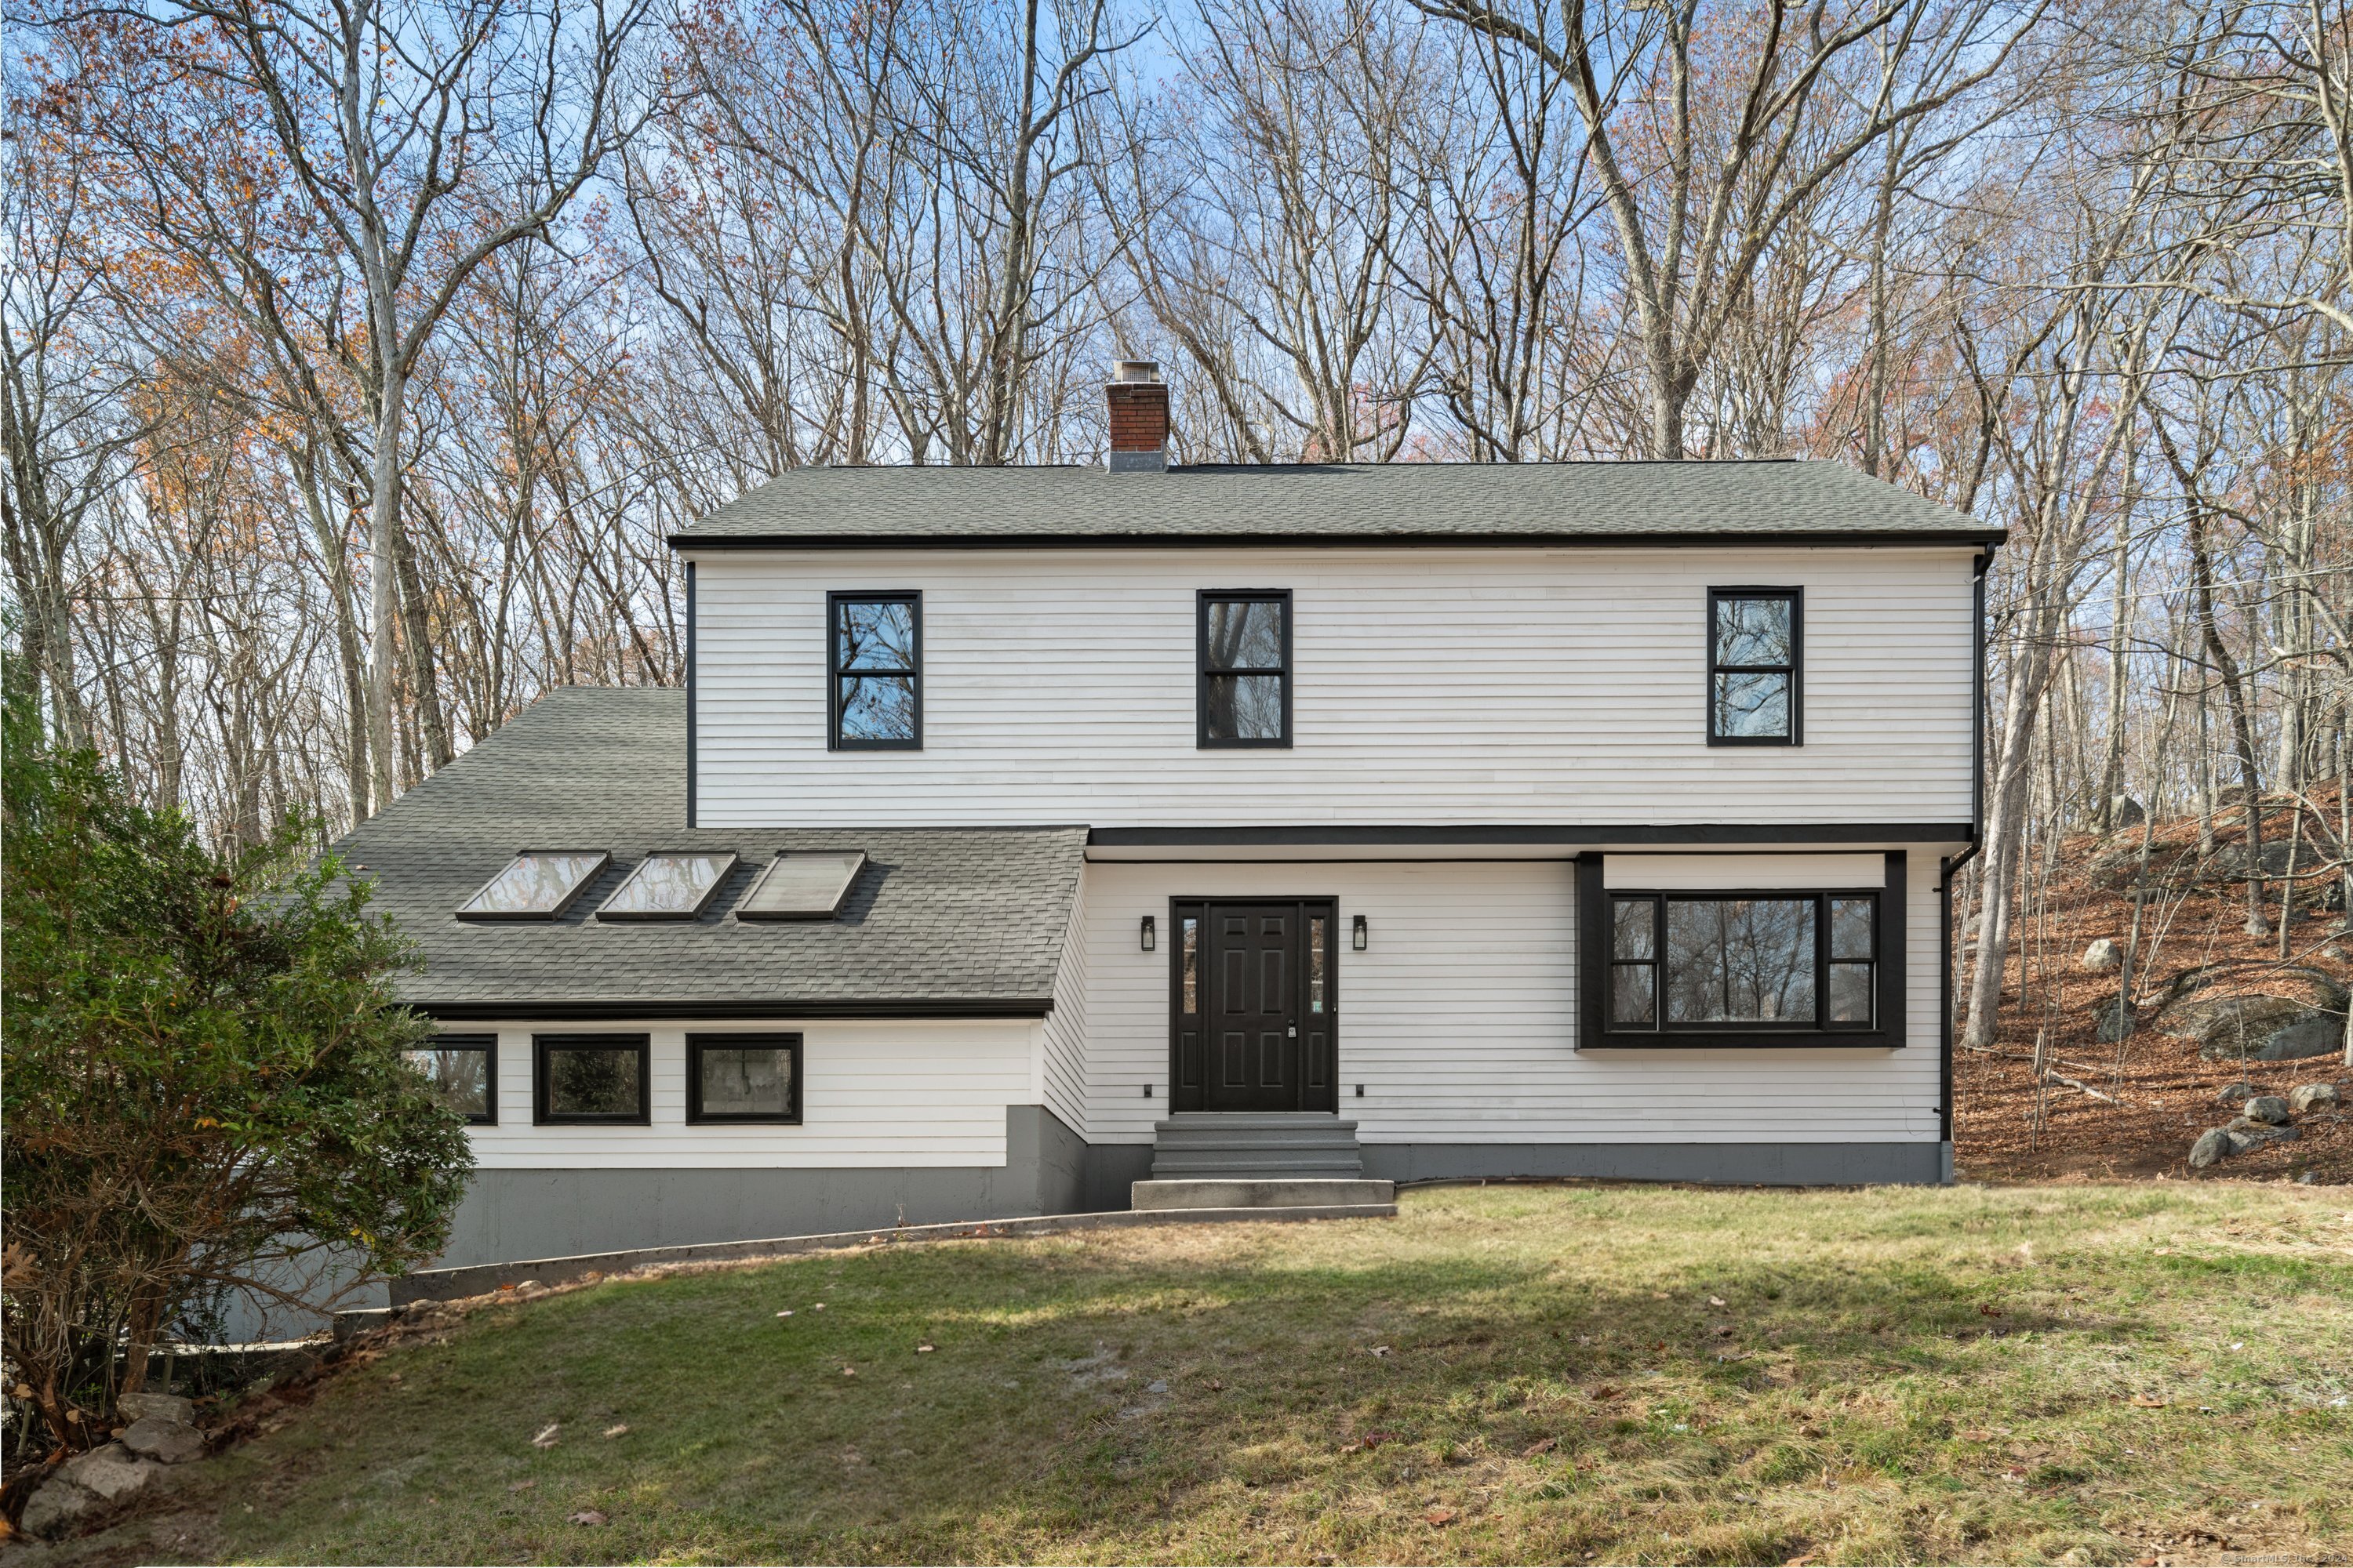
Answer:
[{"label": "white ground-floor clapboard siding around the front door and wide window", "polygon": [[[1899,1051],[1588,1051],[1577,1039],[1577,886],[1560,860],[1096,863],[1087,1138],[1148,1143],[1167,1100],[1169,950],[1136,922],[1172,898],[1337,898],[1339,1112],[1365,1143],[1934,1143],[1937,858],[1908,863]],[[1355,1098],[1355,1086],[1365,1098]]]}]

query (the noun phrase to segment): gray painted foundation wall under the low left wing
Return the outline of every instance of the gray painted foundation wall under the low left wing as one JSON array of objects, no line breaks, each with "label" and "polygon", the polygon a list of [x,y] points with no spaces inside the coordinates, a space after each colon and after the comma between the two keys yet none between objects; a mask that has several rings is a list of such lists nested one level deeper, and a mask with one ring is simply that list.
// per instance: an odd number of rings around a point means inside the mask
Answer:
[{"label": "gray painted foundation wall under the low left wing", "polygon": [[475,1171],[433,1265],[1075,1213],[1089,1154],[1054,1112],[1007,1105],[1002,1166]]}]

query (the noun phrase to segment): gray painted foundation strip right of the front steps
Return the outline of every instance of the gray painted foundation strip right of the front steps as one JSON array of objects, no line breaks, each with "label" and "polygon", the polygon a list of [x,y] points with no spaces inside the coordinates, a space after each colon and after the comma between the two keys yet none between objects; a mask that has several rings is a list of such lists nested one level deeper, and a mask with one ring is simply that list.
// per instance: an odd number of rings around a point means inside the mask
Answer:
[{"label": "gray painted foundation strip right of the front steps", "polygon": [[1737,1187],[1953,1180],[1951,1143],[1367,1143],[1365,1175],[1393,1182],[1591,1178]]}]

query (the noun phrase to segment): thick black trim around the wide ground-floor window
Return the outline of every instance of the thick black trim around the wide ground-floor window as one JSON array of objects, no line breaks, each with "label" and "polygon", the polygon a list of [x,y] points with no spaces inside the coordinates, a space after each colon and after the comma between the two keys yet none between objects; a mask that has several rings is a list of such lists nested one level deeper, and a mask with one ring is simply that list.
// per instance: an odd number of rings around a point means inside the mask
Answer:
[{"label": "thick black trim around the wide ground-floor window", "polygon": [[[1791,1046],[1904,1046],[1904,851],[1887,851],[1880,886],[1838,889],[1612,889],[1602,879],[1605,856],[1577,858],[1577,1048],[1579,1051],[1774,1051]],[[1680,1023],[1664,1020],[1664,997],[1659,999],[1657,1025],[1617,1025],[1609,1018],[1612,992],[1612,900],[1614,898],[1817,898],[1814,924],[1814,994],[1828,1004],[1826,964],[1831,952],[1828,900],[1831,898],[1878,898],[1878,922],[1873,931],[1873,1025],[1791,1025],[1791,1023]],[[1661,910],[1664,917],[1664,910]],[[1664,924],[1657,931],[1666,940]]]}]

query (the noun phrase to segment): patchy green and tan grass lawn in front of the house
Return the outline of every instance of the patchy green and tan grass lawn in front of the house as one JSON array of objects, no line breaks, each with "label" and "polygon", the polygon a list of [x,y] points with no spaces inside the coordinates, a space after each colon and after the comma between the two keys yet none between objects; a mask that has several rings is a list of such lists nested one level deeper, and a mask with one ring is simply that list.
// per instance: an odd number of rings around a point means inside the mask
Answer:
[{"label": "patchy green and tan grass lawn in front of the house", "polygon": [[386,1349],[78,1556],[2346,1561],[2348,1208],[1454,1187],[607,1281]]}]

